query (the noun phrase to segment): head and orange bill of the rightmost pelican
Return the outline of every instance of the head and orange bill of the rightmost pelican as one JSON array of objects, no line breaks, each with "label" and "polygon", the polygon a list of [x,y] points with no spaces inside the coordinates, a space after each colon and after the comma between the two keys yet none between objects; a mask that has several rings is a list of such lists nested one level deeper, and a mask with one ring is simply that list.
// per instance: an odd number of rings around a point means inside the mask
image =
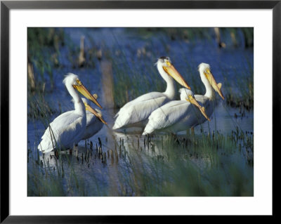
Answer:
[{"label": "head and orange bill of the rightmost pelican", "polygon": [[221,83],[219,83],[219,84],[216,83],[216,80],[214,79],[213,74],[211,74],[210,65],[207,63],[201,63],[198,66],[198,71],[200,72],[200,77],[201,77],[203,83],[205,84],[205,86],[207,83],[209,83],[211,85],[211,87],[213,87],[214,90],[218,93],[218,95],[220,95],[221,98],[223,98],[223,100],[224,100],[224,96],[221,91]]}]

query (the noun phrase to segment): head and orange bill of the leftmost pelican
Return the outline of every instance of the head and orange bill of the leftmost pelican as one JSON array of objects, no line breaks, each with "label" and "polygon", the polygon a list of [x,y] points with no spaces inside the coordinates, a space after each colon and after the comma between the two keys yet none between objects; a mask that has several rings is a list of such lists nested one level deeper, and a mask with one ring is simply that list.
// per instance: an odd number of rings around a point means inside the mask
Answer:
[{"label": "head and orange bill of the leftmost pelican", "polygon": [[88,89],[81,83],[77,74],[67,73],[65,79],[63,79],[63,83],[65,84],[65,86],[73,86],[73,88],[77,89],[77,91],[79,91],[86,98],[98,105],[98,107],[103,108],[100,106],[96,98],[94,98],[93,95],[89,93]]}]

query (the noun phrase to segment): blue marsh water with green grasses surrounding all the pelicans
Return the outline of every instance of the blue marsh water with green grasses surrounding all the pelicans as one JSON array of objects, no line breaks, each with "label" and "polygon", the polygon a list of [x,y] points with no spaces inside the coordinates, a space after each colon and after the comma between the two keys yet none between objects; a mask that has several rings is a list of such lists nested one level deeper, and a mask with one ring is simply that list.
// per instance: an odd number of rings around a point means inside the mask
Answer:
[{"label": "blue marsh water with green grasses surrounding all the pelicans", "polygon": [[[254,128],[237,124],[253,119],[253,31],[28,28],[27,195],[253,196]],[[223,84],[226,112],[214,112],[212,123],[193,133],[141,137],[105,127],[85,145],[79,143],[78,152],[37,150],[53,118],[73,108],[62,84],[67,72],[93,86],[110,121],[129,100],[165,90],[154,66],[162,55],[171,58],[198,94],[204,94],[204,85],[197,65],[208,62]],[[218,129],[218,119],[230,120],[231,131]]]}]

